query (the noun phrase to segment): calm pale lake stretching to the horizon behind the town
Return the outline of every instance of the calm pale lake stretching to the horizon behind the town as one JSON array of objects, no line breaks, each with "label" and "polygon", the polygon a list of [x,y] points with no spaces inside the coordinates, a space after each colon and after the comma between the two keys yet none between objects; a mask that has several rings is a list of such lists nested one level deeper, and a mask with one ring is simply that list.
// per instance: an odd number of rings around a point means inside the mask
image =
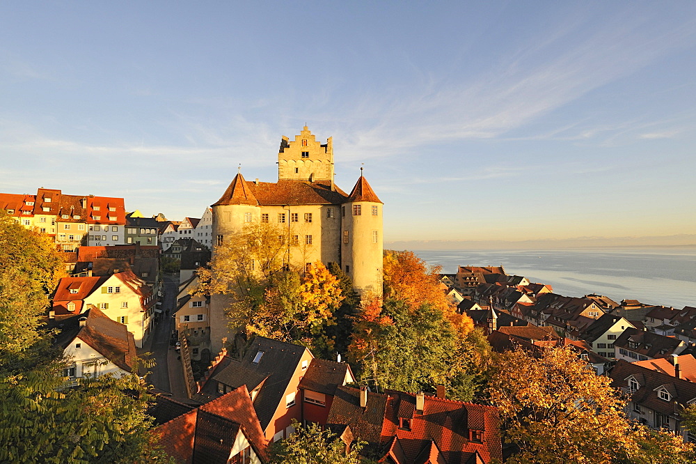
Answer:
[{"label": "calm pale lake stretching to the horizon behind the town", "polygon": [[550,284],[565,296],[599,293],[675,308],[696,307],[696,249],[576,249],[543,251],[414,250],[442,272],[459,265],[503,265],[507,274]]}]

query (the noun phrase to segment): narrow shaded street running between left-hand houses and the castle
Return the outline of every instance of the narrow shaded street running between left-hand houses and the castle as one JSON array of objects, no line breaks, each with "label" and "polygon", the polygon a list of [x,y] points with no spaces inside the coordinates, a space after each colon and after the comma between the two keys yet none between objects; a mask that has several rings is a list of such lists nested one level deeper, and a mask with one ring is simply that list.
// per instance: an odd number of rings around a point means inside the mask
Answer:
[{"label": "narrow shaded street running between left-hand houses and the castle", "polygon": [[[148,382],[155,388],[171,392],[171,382],[169,379],[169,352],[174,349],[169,345],[172,330],[174,328],[172,314],[175,309],[175,299],[178,290],[178,279],[171,276],[164,276],[164,301],[162,302],[162,313],[159,314],[159,321],[155,324],[155,330],[150,340],[150,359],[155,360],[155,366],[150,369]],[[174,361],[176,357],[173,357]]]}]

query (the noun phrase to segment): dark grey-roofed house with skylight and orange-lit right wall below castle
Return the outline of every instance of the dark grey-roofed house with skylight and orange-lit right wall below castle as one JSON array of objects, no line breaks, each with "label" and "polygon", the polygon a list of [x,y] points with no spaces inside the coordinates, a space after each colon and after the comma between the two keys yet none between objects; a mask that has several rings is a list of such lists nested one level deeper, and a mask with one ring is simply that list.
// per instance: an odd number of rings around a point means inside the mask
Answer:
[{"label": "dark grey-roofed house with skylight and orange-lit right wall below castle", "polygon": [[303,346],[256,337],[241,360],[216,359],[193,399],[206,403],[246,385],[265,437],[282,440],[293,432],[292,419],[301,418],[299,383],[313,358]]}]

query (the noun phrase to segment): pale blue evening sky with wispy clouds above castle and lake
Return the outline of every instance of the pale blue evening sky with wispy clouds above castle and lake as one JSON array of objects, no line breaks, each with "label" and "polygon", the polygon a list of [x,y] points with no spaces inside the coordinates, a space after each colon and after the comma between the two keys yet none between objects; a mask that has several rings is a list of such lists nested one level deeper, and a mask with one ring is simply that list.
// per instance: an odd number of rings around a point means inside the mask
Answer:
[{"label": "pale blue evening sky with wispy clouds above castle and lake", "polygon": [[0,2],[0,192],[200,217],[333,137],[384,240],[696,233],[696,2]]}]

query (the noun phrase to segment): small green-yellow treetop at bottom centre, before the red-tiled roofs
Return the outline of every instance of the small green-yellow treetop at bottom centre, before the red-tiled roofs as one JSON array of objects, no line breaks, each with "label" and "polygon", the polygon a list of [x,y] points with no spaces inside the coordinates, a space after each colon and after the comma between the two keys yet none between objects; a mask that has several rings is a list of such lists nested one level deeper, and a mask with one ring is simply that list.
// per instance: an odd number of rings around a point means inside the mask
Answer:
[{"label": "small green-yellow treetop at bottom centre, before the red-tiled roofs", "polygon": [[358,454],[364,442],[354,443],[347,449],[345,442],[330,430],[318,424],[302,427],[293,419],[295,433],[269,447],[269,464],[361,464],[366,463]]}]

